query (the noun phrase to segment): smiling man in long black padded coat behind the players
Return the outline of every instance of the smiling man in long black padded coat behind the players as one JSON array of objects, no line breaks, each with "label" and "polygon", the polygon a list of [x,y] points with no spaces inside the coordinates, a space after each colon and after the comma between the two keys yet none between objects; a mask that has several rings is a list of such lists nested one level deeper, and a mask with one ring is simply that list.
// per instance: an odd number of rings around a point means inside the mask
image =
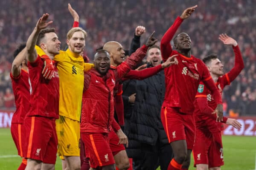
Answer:
[{"label": "smiling man in long black padded coat behind the players", "polygon": [[[147,67],[161,64],[158,46],[148,48],[147,62]],[[159,165],[161,170],[167,170],[173,155],[160,118],[165,94],[164,72],[160,71],[135,83],[134,108],[131,114],[125,115],[125,134],[129,139],[128,156],[134,159],[135,170],[155,170]]]}]

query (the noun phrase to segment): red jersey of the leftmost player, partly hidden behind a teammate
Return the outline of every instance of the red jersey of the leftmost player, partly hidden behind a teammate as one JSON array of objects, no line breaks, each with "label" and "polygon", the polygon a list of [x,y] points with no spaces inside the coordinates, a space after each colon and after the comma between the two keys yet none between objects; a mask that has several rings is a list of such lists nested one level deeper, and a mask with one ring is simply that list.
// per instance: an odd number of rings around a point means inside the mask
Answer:
[{"label": "red jersey of the leftmost player, partly hidden behind a teammate", "polygon": [[12,79],[12,89],[16,105],[16,111],[12,116],[12,123],[23,124],[24,117],[29,111],[29,74],[26,70],[21,69],[18,77],[13,77],[12,72],[10,77]]}]

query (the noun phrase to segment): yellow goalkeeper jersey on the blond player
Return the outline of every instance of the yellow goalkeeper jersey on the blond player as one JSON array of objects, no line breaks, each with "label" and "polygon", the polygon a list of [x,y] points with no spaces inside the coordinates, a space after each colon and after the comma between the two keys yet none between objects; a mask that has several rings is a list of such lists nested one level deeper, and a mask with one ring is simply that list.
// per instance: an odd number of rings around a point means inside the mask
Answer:
[{"label": "yellow goalkeeper jersey on the blond player", "polygon": [[[44,51],[36,50],[41,56]],[[60,82],[59,115],[80,121],[82,94],[84,88],[84,71],[94,67],[93,64],[84,63],[82,56],[67,49],[55,55],[58,62],[58,74]]]}]

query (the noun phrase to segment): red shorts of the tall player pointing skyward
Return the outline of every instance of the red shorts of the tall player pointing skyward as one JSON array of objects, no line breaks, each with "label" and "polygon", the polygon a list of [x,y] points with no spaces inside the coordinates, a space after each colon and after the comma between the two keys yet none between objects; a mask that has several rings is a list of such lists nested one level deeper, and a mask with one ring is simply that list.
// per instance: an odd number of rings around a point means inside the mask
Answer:
[{"label": "red shorts of the tall player pointing skyward", "polygon": [[194,115],[180,113],[174,108],[162,107],[161,120],[169,143],[186,140],[187,149],[193,149],[195,142]]}]

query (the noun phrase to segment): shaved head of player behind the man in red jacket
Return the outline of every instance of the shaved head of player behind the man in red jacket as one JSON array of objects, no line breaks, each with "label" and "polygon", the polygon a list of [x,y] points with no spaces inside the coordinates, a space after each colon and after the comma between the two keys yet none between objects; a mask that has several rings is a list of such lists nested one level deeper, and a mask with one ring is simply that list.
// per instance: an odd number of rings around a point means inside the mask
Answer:
[{"label": "shaved head of player behind the man in red jacket", "polygon": [[125,51],[122,45],[116,41],[106,42],[103,46],[103,50],[106,50],[110,54],[111,65],[117,66],[121,64],[125,59]]}]

